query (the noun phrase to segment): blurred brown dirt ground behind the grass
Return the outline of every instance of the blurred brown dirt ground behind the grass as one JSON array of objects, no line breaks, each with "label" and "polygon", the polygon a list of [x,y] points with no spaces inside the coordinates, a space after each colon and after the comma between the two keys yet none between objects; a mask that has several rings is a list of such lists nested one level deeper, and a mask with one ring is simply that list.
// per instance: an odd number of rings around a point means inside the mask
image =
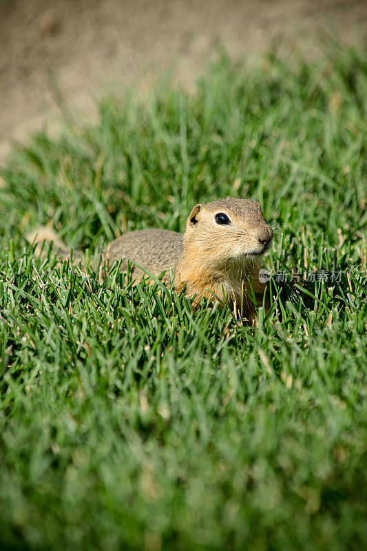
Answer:
[{"label": "blurred brown dirt ground behind the grass", "polygon": [[366,30],[366,0],[0,0],[0,161],[60,105],[93,116],[114,83],[147,91],[174,66],[190,86],[218,42],[313,55],[323,34],[355,44]]}]

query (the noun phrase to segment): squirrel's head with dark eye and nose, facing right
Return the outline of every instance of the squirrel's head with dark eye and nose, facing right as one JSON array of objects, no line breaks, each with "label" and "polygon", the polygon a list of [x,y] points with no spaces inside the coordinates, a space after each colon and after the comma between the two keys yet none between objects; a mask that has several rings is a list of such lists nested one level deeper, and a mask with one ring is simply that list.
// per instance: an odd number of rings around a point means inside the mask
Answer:
[{"label": "squirrel's head with dark eye and nose, facing right", "polygon": [[199,203],[187,219],[184,247],[208,268],[225,269],[229,260],[247,262],[270,247],[273,229],[252,199]]}]

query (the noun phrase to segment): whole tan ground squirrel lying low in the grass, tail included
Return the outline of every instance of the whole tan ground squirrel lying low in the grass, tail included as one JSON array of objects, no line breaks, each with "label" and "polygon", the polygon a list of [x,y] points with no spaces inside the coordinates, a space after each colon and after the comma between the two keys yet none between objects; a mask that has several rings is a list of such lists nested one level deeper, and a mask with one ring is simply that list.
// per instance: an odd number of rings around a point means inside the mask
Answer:
[{"label": "whole tan ground squirrel lying low in the grass, tail included", "polygon": [[[59,256],[70,257],[54,231],[43,228],[28,236],[32,242],[54,241]],[[132,262],[132,275],[139,281],[145,275],[134,266],[138,262],[158,276],[172,269],[174,286],[198,304],[208,300],[227,302],[234,311],[241,311],[251,324],[256,321],[251,287],[258,305],[262,305],[265,285],[259,280],[261,256],[269,249],[273,230],[266,223],[262,209],[252,199],[222,199],[199,203],[187,219],[185,233],[165,229],[132,231],[112,241],[103,251],[103,259],[111,266],[123,260],[121,270]],[[76,251],[73,258],[81,258]]]}]

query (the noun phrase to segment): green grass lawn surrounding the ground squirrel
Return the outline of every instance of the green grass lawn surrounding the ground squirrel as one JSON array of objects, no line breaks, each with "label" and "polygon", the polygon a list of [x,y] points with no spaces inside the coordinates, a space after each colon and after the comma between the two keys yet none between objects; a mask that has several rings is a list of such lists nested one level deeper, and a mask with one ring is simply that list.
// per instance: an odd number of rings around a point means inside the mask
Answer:
[{"label": "green grass lawn surrounding the ground squirrel", "polygon": [[[109,97],[12,154],[0,187],[0,546],[361,549],[367,539],[367,56],[225,56],[195,93]],[[280,228],[259,329],[159,284],[103,284],[24,234],[94,251],[249,196]]]}]

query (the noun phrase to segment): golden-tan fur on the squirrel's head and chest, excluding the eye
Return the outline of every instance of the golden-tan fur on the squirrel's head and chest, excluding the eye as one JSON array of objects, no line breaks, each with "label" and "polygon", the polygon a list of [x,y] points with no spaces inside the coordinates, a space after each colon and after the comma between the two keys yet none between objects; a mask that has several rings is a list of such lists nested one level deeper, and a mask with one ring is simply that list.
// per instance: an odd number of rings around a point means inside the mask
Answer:
[{"label": "golden-tan fur on the squirrel's head and chest, excluding the eye", "polygon": [[[214,215],[219,212],[227,214],[231,225],[216,224]],[[259,281],[261,255],[272,238],[273,230],[256,201],[224,199],[196,205],[187,220],[175,288],[179,292],[186,284],[189,295],[197,293],[196,302],[203,296],[216,300],[214,293],[251,324],[257,322],[251,286],[261,306],[265,289]],[[259,239],[267,240],[265,247]]]}]

